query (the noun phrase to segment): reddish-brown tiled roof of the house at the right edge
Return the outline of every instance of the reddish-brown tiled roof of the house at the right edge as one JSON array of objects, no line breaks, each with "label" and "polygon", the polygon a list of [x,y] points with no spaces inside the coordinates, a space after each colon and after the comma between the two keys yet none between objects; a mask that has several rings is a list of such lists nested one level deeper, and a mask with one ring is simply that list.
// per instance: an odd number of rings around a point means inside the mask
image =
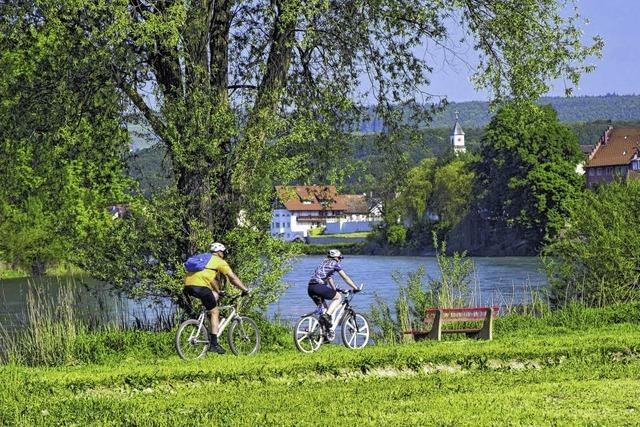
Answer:
[{"label": "reddish-brown tiled roof of the house at the right edge", "polygon": [[628,165],[640,150],[640,128],[614,128],[586,167]]}]

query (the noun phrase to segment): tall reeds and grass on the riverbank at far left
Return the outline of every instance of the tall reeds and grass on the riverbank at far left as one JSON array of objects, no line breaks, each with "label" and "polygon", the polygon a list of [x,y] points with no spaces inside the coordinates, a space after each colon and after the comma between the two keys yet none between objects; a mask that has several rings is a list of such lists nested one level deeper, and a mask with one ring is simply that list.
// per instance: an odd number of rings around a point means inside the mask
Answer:
[{"label": "tall reeds and grass on the riverbank at far left", "polygon": [[[169,315],[131,318],[117,303],[107,307],[100,298],[97,307],[86,307],[81,295],[87,290],[81,284],[56,280],[27,282],[24,315],[8,327],[0,325],[0,361],[59,366],[174,354],[168,329],[175,320]],[[50,287],[56,291],[49,292]]]}]

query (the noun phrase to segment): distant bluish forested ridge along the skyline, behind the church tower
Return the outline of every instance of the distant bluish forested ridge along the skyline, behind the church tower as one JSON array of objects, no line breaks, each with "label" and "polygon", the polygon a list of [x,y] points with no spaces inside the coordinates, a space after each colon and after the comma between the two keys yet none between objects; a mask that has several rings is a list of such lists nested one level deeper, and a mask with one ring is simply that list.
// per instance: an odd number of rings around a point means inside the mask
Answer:
[{"label": "distant bluish forested ridge along the skyline, behind the church tower", "polygon": [[[565,123],[640,120],[640,95],[548,97],[541,98],[539,103],[551,104],[558,112],[560,121]],[[429,127],[451,127],[455,122],[456,111],[459,112],[463,128],[483,127],[492,116],[488,102],[452,102],[434,117]],[[375,118],[360,126],[360,131],[365,133],[379,132],[381,129],[382,121]]]}]

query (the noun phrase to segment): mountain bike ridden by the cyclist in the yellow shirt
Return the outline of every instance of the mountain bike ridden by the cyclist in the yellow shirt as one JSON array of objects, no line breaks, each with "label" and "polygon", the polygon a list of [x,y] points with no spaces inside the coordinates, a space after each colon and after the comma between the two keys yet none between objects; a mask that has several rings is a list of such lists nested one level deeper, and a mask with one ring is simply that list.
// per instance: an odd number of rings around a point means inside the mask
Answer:
[{"label": "mountain bike ridden by the cyclist in the yellow shirt", "polygon": [[[220,292],[220,299],[225,298]],[[242,316],[240,310],[240,295],[227,298],[226,305],[220,306],[220,324],[218,336],[221,337],[229,326],[227,342],[229,349],[236,356],[251,356],[260,350],[260,330],[251,318]],[[194,360],[204,357],[209,347],[209,328],[207,310],[203,309],[196,319],[185,320],[178,326],[176,332],[176,351],[183,360]],[[207,319],[205,321],[205,319]]]}]

